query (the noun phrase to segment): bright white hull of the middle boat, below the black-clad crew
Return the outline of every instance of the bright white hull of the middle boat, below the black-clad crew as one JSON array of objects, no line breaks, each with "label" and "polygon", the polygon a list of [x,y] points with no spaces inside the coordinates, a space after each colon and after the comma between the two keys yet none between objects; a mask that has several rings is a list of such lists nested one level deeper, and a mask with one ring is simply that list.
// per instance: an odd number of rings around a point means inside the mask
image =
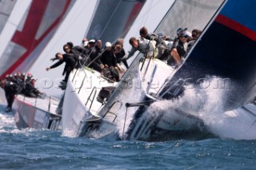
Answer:
[{"label": "bright white hull of the middle boat, below the black-clad crew", "polygon": [[[74,78],[74,80],[73,80]],[[81,131],[98,128],[102,117],[98,112],[102,103],[97,100],[102,87],[115,86],[92,69],[78,69],[70,73],[62,107],[62,134],[64,136],[80,136]],[[83,129],[83,122],[94,122]],[[96,123],[95,123],[96,122]]]}]

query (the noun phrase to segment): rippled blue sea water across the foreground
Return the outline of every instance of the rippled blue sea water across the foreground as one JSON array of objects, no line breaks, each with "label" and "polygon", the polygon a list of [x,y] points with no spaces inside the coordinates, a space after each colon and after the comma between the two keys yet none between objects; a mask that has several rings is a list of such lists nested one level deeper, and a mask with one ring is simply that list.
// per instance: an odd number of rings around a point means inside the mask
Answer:
[{"label": "rippled blue sea water across the foreground", "polygon": [[256,140],[145,142],[69,138],[46,129],[18,129],[0,113],[0,169],[255,169]]}]

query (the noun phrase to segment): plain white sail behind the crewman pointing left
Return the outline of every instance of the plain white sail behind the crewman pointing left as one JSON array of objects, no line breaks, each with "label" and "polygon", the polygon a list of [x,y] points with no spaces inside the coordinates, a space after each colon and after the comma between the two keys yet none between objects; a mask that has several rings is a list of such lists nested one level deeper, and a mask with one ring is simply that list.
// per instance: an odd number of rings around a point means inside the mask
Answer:
[{"label": "plain white sail behind the crewman pointing left", "polygon": [[66,42],[73,42],[74,45],[81,44],[90,19],[94,14],[96,3],[97,1],[77,0],[56,34],[38,56],[38,60],[34,62],[30,73],[38,78],[36,86],[39,90],[55,97],[62,95],[62,90],[58,88],[58,84],[63,79],[64,65],[51,69],[49,72],[46,72],[46,67],[53,65],[50,58],[58,52],[63,52],[62,47]]}]

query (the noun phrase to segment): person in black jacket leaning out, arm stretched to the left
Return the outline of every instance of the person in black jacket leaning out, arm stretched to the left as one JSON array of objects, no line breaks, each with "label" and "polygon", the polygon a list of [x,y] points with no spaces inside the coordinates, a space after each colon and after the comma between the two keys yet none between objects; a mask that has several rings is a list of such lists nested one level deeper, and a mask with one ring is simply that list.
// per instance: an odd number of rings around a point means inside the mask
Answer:
[{"label": "person in black jacket leaning out, arm stretched to the left", "polygon": [[63,62],[66,63],[66,77],[64,79],[64,82],[67,82],[71,71],[74,69],[76,60],[75,60],[75,54],[74,53],[56,53],[55,57],[58,58],[58,62],[56,62],[54,65],[51,65],[50,67],[46,68],[46,71],[49,71],[50,69],[54,69],[58,67],[59,65],[62,65]]}]

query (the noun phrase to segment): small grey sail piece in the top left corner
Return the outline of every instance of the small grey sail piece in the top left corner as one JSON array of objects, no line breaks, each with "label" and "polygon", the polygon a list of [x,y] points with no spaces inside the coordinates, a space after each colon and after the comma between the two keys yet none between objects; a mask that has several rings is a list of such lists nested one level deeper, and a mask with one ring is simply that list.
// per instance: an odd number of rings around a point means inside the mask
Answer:
[{"label": "small grey sail piece in the top left corner", "polygon": [[0,34],[2,33],[3,27],[6,25],[6,22],[10,16],[11,11],[14,8],[17,0],[2,0],[0,1]]}]

